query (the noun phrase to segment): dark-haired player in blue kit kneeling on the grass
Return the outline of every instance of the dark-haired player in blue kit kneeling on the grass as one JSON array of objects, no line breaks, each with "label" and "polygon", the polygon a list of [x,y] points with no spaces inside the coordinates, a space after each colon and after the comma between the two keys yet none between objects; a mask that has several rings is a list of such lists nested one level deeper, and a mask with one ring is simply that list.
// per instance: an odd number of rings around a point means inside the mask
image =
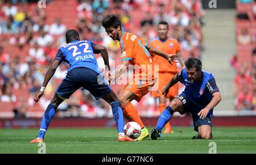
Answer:
[{"label": "dark-haired player in blue kit kneeling on the grass", "polygon": [[191,112],[194,129],[198,132],[194,139],[212,139],[213,108],[221,101],[221,94],[211,73],[202,70],[202,63],[197,58],[188,58],[185,69],[177,73],[163,87],[162,93],[168,94],[170,87],[177,82],[185,85],[185,90],[177,96],[161,113],[155,129],[151,130],[151,139],[160,137],[164,125],[171,119],[174,112],[183,115]]}]

